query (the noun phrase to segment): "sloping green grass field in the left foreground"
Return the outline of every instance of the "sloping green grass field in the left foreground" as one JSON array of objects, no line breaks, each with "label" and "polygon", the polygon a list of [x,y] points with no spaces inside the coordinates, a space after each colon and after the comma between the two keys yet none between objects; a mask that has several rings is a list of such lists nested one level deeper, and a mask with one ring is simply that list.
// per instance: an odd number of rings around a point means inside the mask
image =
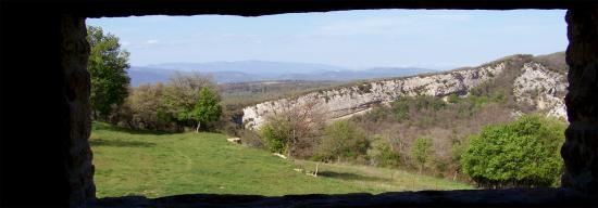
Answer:
[{"label": "sloping green grass field in the left foreground", "polygon": [[381,193],[464,190],[472,186],[400,170],[364,166],[319,166],[286,160],[265,151],[232,144],[217,133],[158,133],[94,122],[90,138],[98,197],[176,194]]}]

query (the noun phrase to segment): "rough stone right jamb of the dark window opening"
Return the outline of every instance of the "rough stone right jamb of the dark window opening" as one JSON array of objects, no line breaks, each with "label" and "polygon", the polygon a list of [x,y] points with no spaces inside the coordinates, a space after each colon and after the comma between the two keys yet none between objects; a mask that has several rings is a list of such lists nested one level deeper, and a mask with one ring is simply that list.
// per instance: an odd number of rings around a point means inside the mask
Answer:
[{"label": "rough stone right jamb of the dark window opening", "polygon": [[598,195],[598,6],[566,13],[570,126],[561,148],[562,185]]}]

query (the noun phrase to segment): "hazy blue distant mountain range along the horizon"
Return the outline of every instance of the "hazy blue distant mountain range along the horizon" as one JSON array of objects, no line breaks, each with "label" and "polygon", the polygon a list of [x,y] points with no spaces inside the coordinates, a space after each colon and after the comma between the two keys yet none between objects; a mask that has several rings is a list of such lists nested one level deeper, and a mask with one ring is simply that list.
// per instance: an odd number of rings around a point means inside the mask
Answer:
[{"label": "hazy blue distant mountain range along the horizon", "polygon": [[351,70],[344,67],[311,63],[287,62],[210,62],[210,63],[164,63],[148,66],[132,66],[128,69],[130,84],[166,82],[175,73],[201,73],[214,77],[219,83],[263,81],[263,80],[331,80],[348,81],[383,77],[402,77],[422,73],[434,73],[434,69],[415,67],[377,67]]}]

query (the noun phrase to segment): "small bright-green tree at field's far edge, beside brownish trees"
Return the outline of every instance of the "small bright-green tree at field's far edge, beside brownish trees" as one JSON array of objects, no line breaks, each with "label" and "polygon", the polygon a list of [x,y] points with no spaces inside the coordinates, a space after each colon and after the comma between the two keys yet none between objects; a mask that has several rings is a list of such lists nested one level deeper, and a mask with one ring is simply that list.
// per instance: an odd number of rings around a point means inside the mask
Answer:
[{"label": "small bright-green tree at field's far edge, beside brownish trees", "polygon": [[216,121],[221,115],[222,107],[217,94],[211,88],[202,88],[199,92],[199,100],[189,115],[189,118],[197,121],[196,132],[199,132],[201,123]]}]

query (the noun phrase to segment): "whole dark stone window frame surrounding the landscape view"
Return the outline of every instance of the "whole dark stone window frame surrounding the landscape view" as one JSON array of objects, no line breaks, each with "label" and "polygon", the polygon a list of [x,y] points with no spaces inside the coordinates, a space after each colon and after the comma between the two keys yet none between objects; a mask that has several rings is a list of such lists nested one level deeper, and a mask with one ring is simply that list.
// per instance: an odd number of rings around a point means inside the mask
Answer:
[{"label": "whole dark stone window frame surrounding the landscape view", "polygon": [[[42,92],[49,93],[46,100],[50,113],[45,115],[52,117],[52,128],[41,127],[50,133],[55,141],[41,144],[49,145],[52,150],[33,147],[39,153],[34,153],[40,161],[51,162],[54,168],[48,169],[49,174],[36,176],[36,168],[21,166],[18,160],[11,161],[10,166],[2,168],[21,168],[27,172],[2,172],[5,176],[18,176],[27,180],[8,184],[13,195],[25,195],[23,185],[39,185],[40,188],[51,192],[57,190],[57,197],[42,197],[20,202],[22,204],[63,205],[70,207],[85,206],[164,206],[164,205],[215,205],[219,202],[233,202],[231,205],[333,205],[333,206],[429,206],[441,205],[490,205],[490,206],[552,206],[570,205],[575,202],[597,203],[598,197],[598,2],[596,0],[58,0],[55,2],[36,2],[34,0],[1,2],[2,17],[8,14],[23,17],[32,15],[42,22],[43,35],[35,36],[18,32],[7,32],[11,28],[15,31],[35,34],[35,29],[20,24],[2,24],[2,48],[18,51],[18,46],[5,44],[4,38],[18,38],[23,36],[23,42],[33,40],[40,44],[40,50],[49,53],[45,61],[49,61],[50,69],[42,75],[51,79],[35,78],[34,80],[49,86],[42,87]],[[32,8],[30,3],[37,8]],[[18,10],[10,11],[5,8]],[[47,6],[47,8],[45,8]],[[49,8],[58,8],[50,10]],[[119,17],[130,15],[201,15],[201,14],[227,14],[240,16],[257,16],[281,13],[301,12],[327,12],[345,10],[376,10],[376,9],[464,9],[464,10],[515,10],[515,9],[566,9],[565,21],[568,23],[569,47],[566,50],[566,63],[570,66],[568,74],[569,92],[565,96],[568,119],[570,126],[565,131],[565,143],[561,155],[565,162],[565,173],[562,177],[562,187],[559,188],[533,188],[527,191],[428,191],[428,192],[400,192],[384,193],[379,195],[347,194],[347,195],[299,195],[283,197],[263,196],[226,196],[226,195],[179,195],[148,199],[144,197],[117,197],[96,198],[94,184],[95,168],[92,153],[89,146],[90,133],[90,103],[89,103],[89,73],[86,69],[89,54],[89,46],[85,39],[86,17]],[[24,13],[23,11],[27,11]],[[30,12],[33,11],[33,13]],[[35,12],[39,12],[34,14]],[[2,20],[4,21],[4,20]],[[28,20],[27,20],[28,21]],[[8,23],[8,22],[2,22]],[[41,38],[38,38],[41,37]],[[28,39],[30,38],[30,39]],[[37,38],[37,39],[36,39]],[[11,40],[13,41],[13,40]],[[45,43],[46,41],[46,43]],[[48,43],[49,41],[49,43]],[[2,49],[3,52],[4,49]],[[3,54],[4,55],[4,54]],[[26,61],[18,54],[9,54],[9,57],[17,61]],[[2,62],[7,61],[2,57]],[[9,60],[10,61],[10,60]],[[11,63],[20,66],[21,63]],[[33,66],[43,67],[39,63],[30,63]],[[2,63],[4,67],[4,63]],[[48,66],[47,66],[48,67]],[[41,70],[40,70],[41,72]],[[5,75],[25,75],[22,72],[2,72]],[[2,77],[2,81],[5,81]],[[2,87],[5,87],[2,84]],[[2,93],[4,91],[3,88]],[[18,95],[11,93],[10,95]],[[35,101],[25,96],[17,96],[25,101]],[[2,116],[5,116],[5,106],[18,104],[2,103]],[[12,115],[10,115],[12,116]],[[10,117],[10,119],[17,117]],[[5,117],[3,118],[4,121]],[[11,128],[25,130],[24,127],[10,125]],[[54,128],[55,127],[55,128]],[[2,129],[5,130],[4,128]],[[2,135],[5,135],[2,132]],[[42,135],[42,134],[36,134]],[[5,145],[7,140],[2,140]],[[27,145],[26,141],[11,141],[11,146]],[[54,148],[55,147],[55,148]],[[57,151],[57,148],[59,151]],[[7,151],[7,148],[2,148]],[[18,150],[13,150],[17,152]],[[13,153],[11,152],[11,154]],[[45,155],[46,154],[46,155]],[[3,155],[4,156],[4,155]],[[4,158],[2,158],[2,161]],[[36,176],[36,177],[34,177]],[[39,179],[37,179],[39,178]],[[2,179],[4,181],[4,178]],[[3,186],[7,184],[2,184]],[[43,186],[47,185],[47,186]],[[48,186],[50,185],[50,186]],[[53,185],[58,185],[54,187]],[[7,186],[3,187],[7,188]],[[4,193],[2,193],[4,194]],[[3,196],[4,197],[4,196]],[[41,196],[38,196],[41,197]],[[7,197],[8,198],[8,197]],[[7,199],[2,198],[2,199]],[[334,204],[322,204],[323,202]],[[0,202],[2,203],[2,202]],[[114,204],[111,204],[114,203]],[[210,204],[211,203],[211,204]],[[311,204],[310,204],[311,203]],[[595,204],[596,206],[596,204]]]}]

